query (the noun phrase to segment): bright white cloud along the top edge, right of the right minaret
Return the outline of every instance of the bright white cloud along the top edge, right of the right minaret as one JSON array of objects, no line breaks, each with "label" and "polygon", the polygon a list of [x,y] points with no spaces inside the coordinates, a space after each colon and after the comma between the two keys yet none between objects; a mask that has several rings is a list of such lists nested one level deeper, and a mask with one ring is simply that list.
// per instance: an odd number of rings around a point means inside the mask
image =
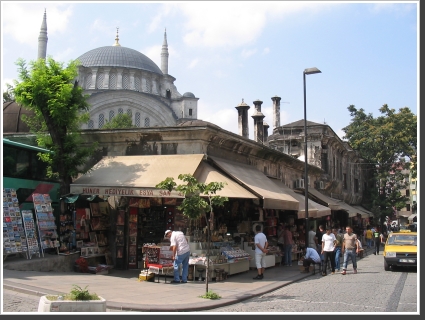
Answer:
[{"label": "bright white cloud along the top edge, right of the right minaret", "polygon": [[270,20],[307,10],[317,13],[328,5],[304,1],[199,1],[165,7],[168,11],[161,18],[177,11],[186,16],[184,41],[188,45],[231,48],[254,43]]}]

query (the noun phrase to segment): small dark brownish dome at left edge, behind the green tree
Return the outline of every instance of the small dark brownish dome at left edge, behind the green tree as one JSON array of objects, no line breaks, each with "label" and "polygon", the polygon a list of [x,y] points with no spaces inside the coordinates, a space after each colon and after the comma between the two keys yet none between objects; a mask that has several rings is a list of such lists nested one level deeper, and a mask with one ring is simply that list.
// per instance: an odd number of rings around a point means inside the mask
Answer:
[{"label": "small dark brownish dome at left edge, behind the green tree", "polygon": [[34,112],[25,109],[15,101],[3,103],[3,133],[30,132],[27,124],[22,121],[21,116],[34,116]]}]

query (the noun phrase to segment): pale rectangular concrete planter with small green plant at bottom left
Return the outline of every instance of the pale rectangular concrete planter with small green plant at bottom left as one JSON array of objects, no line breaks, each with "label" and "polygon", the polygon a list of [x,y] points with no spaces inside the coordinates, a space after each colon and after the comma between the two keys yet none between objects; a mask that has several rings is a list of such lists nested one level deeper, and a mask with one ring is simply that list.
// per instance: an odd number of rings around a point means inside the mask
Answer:
[{"label": "pale rectangular concrete planter with small green plant at bottom left", "polygon": [[74,284],[69,293],[40,297],[38,312],[106,312],[106,300]]}]

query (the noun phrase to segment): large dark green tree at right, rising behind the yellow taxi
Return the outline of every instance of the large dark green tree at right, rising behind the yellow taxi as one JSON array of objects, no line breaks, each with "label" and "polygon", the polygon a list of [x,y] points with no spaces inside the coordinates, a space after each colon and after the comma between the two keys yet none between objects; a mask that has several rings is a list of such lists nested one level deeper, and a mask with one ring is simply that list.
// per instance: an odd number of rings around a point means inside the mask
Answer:
[{"label": "large dark green tree at right, rising behind the yellow taxi", "polygon": [[385,216],[404,208],[408,201],[400,192],[408,184],[404,170],[412,170],[416,176],[417,117],[407,107],[396,112],[386,104],[379,109],[382,115],[376,118],[354,105],[348,110],[352,120],[343,128],[343,139],[360,153],[372,172],[367,190],[369,207],[383,224]]}]

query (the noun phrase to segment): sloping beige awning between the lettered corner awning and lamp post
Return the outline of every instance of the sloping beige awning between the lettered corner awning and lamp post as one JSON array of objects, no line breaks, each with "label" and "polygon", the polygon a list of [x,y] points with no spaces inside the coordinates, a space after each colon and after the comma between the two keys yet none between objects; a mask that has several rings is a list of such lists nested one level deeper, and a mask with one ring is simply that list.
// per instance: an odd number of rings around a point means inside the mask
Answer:
[{"label": "sloping beige awning between the lettered corner awning and lamp post", "polygon": [[263,208],[298,211],[298,200],[289,194],[282,193],[282,191],[257,168],[211,156],[209,159],[212,159],[221,170],[241,183],[249,191],[260,196],[263,199]]}]

